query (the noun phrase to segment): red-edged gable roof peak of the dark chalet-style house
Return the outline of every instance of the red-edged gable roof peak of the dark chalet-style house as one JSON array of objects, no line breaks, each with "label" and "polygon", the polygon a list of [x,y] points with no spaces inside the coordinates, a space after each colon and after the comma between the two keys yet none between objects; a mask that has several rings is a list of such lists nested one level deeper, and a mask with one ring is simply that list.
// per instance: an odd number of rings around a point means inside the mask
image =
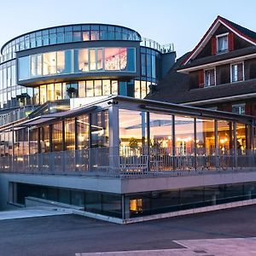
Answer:
[{"label": "red-edged gable roof peak of the dark chalet-style house", "polygon": [[213,21],[212,26],[210,26],[205,35],[201,38],[201,41],[195,46],[195,49],[193,49],[190,55],[183,61],[183,65],[187,64],[192,58],[195,58],[195,56],[201,52],[201,49],[203,49],[203,47],[209,42],[212,38],[212,34],[216,32],[218,26],[221,24],[226,26],[231,32],[234,32],[238,37],[246,40],[250,44],[256,45],[256,32],[218,16],[216,20]]}]

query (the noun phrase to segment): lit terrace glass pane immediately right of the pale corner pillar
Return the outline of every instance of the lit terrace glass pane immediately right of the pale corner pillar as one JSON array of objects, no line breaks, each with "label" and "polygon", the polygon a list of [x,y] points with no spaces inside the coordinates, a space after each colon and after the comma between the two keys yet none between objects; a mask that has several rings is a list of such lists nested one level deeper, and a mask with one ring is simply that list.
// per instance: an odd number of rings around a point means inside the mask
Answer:
[{"label": "lit terrace glass pane immediately right of the pale corner pillar", "polygon": [[146,145],[146,113],[119,109],[120,154],[141,154]]}]

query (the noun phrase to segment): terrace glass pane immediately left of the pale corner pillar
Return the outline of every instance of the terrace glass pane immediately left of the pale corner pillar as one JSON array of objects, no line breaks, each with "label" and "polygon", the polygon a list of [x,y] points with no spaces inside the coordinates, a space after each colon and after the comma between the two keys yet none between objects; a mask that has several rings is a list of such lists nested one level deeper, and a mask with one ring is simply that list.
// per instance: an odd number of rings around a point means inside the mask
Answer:
[{"label": "terrace glass pane immediately left of the pale corner pillar", "polygon": [[108,147],[108,111],[91,114],[91,147]]}]

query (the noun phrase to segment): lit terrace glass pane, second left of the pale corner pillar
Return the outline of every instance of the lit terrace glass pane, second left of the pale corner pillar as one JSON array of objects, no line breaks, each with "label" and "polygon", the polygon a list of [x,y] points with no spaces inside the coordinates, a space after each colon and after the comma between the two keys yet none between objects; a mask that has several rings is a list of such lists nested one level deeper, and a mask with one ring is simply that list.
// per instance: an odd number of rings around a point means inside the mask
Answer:
[{"label": "lit terrace glass pane, second left of the pale corner pillar", "polygon": [[89,115],[84,114],[78,117],[77,119],[77,126],[78,126],[78,149],[86,149],[89,148]]}]

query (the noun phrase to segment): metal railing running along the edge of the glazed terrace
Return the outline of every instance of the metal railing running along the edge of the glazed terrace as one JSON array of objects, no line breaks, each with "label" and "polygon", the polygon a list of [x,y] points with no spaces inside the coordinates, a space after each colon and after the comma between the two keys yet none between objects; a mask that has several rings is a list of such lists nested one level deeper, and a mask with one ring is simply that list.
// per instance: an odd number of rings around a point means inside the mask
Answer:
[{"label": "metal railing running along the edge of the glazed terrace", "polygon": [[0,158],[0,172],[102,177],[179,176],[212,172],[256,171],[256,154],[176,155],[163,151],[90,148]]}]

